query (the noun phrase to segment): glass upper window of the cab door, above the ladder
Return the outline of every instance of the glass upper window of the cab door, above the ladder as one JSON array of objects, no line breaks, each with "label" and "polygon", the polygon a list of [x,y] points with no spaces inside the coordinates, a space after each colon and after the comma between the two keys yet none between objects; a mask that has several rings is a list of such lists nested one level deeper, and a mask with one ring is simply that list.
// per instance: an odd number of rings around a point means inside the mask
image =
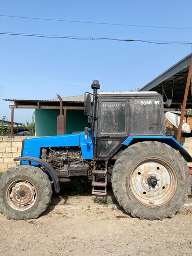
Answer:
[{"label": "glass upper window of the cab door, above the ladder", "polygon": [[124,133],[126,124],[126,103],[124,101],[102,102],[101,133]]}]

